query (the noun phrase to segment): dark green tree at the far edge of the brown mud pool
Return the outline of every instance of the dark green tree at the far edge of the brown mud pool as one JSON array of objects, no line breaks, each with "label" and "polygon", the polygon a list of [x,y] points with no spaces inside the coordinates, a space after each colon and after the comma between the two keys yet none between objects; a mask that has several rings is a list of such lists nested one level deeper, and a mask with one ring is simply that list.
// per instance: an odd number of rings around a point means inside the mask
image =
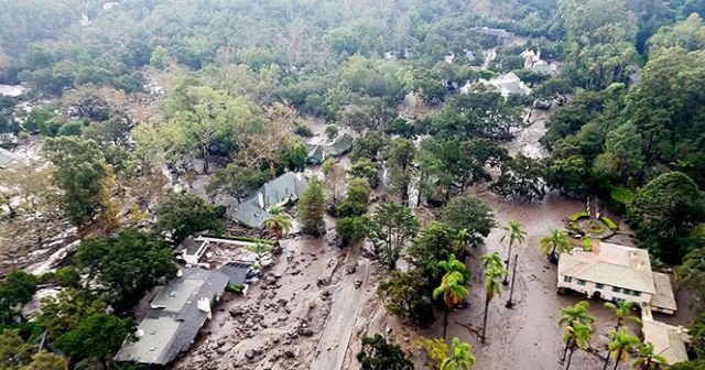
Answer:
[{"label": "dark green tree at the far edge of the brown mud pool", "polygon": [[501,197],[531,203],[546,195],[545,176],[546,166],[542,161],[519,153],[506,162],[502,174],[490,188]]}]

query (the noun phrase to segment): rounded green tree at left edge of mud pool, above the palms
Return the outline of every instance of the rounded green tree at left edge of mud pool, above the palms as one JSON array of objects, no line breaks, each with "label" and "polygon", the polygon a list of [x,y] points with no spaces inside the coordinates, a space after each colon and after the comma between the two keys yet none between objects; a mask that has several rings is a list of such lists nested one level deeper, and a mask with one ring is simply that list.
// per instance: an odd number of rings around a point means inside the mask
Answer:
[{"label": "rounded green tree at left edge of mud pool, above the palms", "polygon": [[492,209],[473,195],[451,199],[438,214],[438,218],[454,230],[466,229],[476,244],[497,226]]}]

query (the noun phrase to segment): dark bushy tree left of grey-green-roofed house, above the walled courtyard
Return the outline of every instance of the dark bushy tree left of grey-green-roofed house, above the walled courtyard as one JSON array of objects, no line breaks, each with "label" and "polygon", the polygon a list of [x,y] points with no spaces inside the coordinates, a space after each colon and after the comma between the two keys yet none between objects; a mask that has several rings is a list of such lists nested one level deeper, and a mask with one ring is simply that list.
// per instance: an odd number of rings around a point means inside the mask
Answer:
[{"label": "dark bushy tree left of grey-green-roofed house, above the walled courtyard", "polygon": [[156,206],[158,232],[171,232],[175,242],[181,242],[198,231],[210,230],[223,233],[220,215],[213,205],[193,194],[170,193]]}]

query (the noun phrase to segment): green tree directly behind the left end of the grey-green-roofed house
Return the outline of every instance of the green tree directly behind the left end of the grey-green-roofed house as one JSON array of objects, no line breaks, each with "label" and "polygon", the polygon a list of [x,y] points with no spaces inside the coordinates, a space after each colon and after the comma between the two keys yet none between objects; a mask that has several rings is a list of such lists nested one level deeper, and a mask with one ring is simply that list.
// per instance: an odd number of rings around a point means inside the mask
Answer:
[{"label": "green tree directly behind the left end of the grey-green-roofed house", "polygon": [[267,173],[259,168],[245,167],[238,163],[229,163],[218,171],[206,185],[209,195],[223,192],[240,202],[250,192],[267,182]]}]

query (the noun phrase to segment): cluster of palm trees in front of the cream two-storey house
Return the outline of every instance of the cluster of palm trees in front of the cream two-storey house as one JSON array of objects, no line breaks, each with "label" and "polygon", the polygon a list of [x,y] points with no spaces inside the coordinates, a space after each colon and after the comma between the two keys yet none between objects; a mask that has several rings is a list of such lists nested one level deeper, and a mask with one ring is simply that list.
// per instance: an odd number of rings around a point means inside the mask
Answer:
[{"label": "cluster of palm trees in front of the cream two-storey house", "polygon": [[[563,334],[563,341],[565,348],[563,350],[563,357],[561,362],[564,362],[565,369],[571,368],[571,360],[575,350],[585,350],[589,348],[590,342],[594,339],[593,323],[595,318],[588,313],[589,304],[587,301],[582,301],[575,304],[575,306],[561,308],[561,318],[558,325],[565,328]],[[623,324],[627,320],[640,323],[638,317],[631,315],[632,303],[619,302],[605,303],[605,307],[610,309],[617,317],[617,325],[608,334],[611,339],[607,345],[607,357],[603,364],[603,370],[606,370],[610,364],[610,360],[614,361],[612,370],[617,370],[620,363],[627,361],[629,352],[636,349],[633,353],[634,360],[631,363],[632,369],[639,370],[657,370],[664,369],[666,366],[665,359],[654,353],[653,345],[650,342],[642,344],[636,336],[629,335]]]}]

